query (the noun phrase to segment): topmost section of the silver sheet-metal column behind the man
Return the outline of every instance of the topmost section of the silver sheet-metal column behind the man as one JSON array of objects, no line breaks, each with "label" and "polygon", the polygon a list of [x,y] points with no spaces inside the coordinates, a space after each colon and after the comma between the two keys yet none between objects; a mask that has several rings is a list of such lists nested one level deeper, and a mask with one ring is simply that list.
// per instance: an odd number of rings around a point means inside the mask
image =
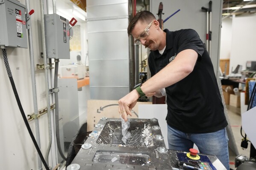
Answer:
[{"label": "topmost section of the silver sheet-metal column behind the man", "polygon": [[128,15],[128,0],[87,0],[87,17],[115,17]]}]

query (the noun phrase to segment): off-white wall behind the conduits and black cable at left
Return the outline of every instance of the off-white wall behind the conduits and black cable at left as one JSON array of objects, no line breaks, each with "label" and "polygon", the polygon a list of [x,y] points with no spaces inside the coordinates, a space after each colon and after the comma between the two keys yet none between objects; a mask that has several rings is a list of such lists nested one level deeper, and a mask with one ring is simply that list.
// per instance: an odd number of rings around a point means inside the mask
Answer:
[{"label": "off-white wall behind the conduits and black cable at left", "polygon": [[[25,4],[25,0],[20,0]],[[42,52],[41,43],[41,17],[38,1],[30,0],[32,14],[32,34],[35,65],[43,63],[40,58]],[[2,51],[2,50],[1,50]],[[29,49],[8,48],[7,55],[16,89],[21,100],[25,114],[34,112],[32,99],[32,83],[29,61]],[[46,107],[44,70],[35,71],[37,86],[38,109]],[[37,152],[29,136],[21,117],[15,96],[12,91],[3,55],[0,52],[0,169],[5,170],[37,170]],[[35,121],[29,121],[29,125],[35,135]],[[43,156],[48,146],[47,115],[39,119],[41,151]],[[51,155],[51,154],[50,154]],[[55,157],[55,156],[54,156]],[[52,158],[49,157],[50,165]]]}]

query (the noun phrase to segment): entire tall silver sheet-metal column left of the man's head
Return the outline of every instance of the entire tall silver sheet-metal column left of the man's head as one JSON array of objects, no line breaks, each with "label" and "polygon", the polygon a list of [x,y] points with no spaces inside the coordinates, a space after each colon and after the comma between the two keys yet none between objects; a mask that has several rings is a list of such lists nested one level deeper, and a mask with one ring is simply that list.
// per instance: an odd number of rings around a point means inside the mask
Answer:
[{"label": "entire tall silver sheet-metal column left of the man's head", "polygon": [[87,0],[91,99],[129,92],[128,0]]}]

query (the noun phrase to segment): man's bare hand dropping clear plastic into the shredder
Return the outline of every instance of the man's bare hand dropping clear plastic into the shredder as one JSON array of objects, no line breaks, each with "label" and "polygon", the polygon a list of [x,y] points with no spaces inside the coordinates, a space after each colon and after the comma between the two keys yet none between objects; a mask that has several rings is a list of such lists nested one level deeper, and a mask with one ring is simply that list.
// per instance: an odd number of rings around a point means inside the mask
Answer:
[{"label": "man's bare hand dropping clear plastic into the shredder", "polygon": [[120,113],[124,121],[127,121],[127,115],[132,116],[131,110],[137,103],[137,99],[139,97],[140,96],[138,95],[138,92],[134,89],[118,101],[118,112]]}]

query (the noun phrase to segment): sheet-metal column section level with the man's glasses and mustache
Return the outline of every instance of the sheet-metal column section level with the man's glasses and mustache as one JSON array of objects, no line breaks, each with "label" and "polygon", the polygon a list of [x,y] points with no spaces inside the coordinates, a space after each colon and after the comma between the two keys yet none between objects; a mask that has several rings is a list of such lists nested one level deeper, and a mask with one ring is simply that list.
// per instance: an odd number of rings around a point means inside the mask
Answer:
[{"label": "sheet-metal column section level with the man's glasses and mustache", "polygon": [[91,60],[129,59],[129,40],[126,32],[88,34],[88,40],[89,63]]}]

